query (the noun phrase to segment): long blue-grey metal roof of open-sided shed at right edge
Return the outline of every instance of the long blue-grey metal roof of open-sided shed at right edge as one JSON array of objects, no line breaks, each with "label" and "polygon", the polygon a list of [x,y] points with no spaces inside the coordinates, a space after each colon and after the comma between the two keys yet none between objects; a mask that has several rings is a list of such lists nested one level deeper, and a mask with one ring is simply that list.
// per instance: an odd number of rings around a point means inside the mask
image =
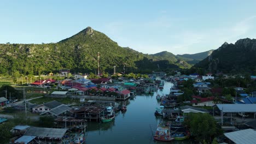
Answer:
[{"label": "long blue-grey metal roof of open-sided shed at right edge", "polygon": [[223,112],[256,112],[256,104],[217,104]]}]

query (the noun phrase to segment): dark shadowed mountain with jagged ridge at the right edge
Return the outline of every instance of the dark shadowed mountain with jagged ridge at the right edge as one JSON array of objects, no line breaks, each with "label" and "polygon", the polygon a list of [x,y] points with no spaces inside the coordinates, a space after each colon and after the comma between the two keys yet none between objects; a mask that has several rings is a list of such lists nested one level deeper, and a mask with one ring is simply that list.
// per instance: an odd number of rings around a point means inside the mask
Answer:
[{"label": "dark shadowed mountain with jagged ridge at the right edge", "polygon": [[256,39],[240,39],[235,44],[225,42],[194,67],[212,72],[255,73]]}]

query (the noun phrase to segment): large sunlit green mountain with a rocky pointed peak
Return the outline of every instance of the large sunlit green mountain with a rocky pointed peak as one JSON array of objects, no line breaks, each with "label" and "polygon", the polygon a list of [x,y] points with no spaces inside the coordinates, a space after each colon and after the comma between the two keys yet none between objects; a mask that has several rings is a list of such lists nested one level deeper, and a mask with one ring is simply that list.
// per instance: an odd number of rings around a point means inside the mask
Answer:
[{"label": "large sunlit green mountain with a rocky pointed peak", "polygon": [[[50,44],[0,44],[0,73],[19,77],[23,75],[58,73],[70,69],[71,73],[95,73],[97,53],[100,54],[100,71],[113,73],[150,73],[152,70],[187,68],[172,58],[145,55],[120,47],[107,35],[91,27],[70,38]],[[182,63],[182,62],[181,62]]]}]

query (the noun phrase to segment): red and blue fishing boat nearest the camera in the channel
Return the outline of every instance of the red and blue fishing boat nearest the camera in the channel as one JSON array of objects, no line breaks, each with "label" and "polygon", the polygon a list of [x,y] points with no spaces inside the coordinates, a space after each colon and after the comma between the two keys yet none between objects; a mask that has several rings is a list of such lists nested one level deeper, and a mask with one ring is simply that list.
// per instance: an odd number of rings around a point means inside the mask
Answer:
[{"label": "red and blue fishing boat nearest the camera in the channel", "polygon": [[158,125],[158,128],[156,129],[154,139],[158,141],[172,141],[174,140],[173,137],[171,137],[170,133],[170,125]]}]

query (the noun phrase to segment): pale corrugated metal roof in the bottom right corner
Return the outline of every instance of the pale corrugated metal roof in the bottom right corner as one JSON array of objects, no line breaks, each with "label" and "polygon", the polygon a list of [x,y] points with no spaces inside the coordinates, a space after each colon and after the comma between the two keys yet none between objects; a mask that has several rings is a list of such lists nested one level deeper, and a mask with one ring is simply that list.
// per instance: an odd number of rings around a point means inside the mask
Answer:
[{"label": "pale corrugated metal roof in the bottom right corner", "polygon": [[238,130],[224,135],[237,144],[254,144],[256,141],[256,131],[253,129]]}]

